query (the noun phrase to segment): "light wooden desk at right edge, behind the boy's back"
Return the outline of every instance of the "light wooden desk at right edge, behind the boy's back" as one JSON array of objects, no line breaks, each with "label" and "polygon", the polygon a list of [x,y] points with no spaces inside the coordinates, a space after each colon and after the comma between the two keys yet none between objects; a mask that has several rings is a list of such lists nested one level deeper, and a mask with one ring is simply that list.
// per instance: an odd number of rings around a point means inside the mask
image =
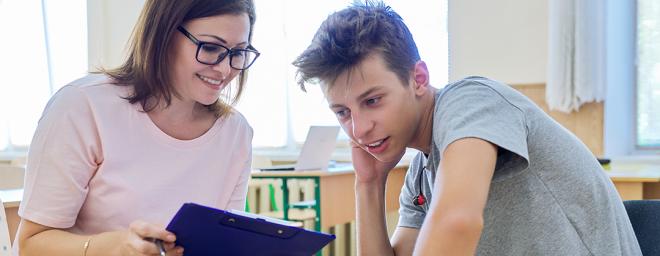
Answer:
[{"label": "light wooden desk at right edge, behind the boy's back", "polygon": [[607,175],[623,200],[660,199],[660,167],[615,168]]}]

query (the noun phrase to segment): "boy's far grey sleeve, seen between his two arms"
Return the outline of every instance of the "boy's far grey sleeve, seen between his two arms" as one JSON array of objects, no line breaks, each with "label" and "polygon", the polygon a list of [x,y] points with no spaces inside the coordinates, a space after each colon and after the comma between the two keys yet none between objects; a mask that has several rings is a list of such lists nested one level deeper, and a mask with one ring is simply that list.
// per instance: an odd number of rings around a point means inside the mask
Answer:
[{"label": "boy's far grey sleeve, seen between his two arms", "polygon": [[419,190],[421,189],[418,187],[419,185],[417,184],[419,184],[419,181],[416,179],[420,178],[419,172],[424,171],[421,154],[417,154],[410,162],[410,166],[406,172],[405,182],[399,194],[399,223],[397,224],[399,227],[419,229],[422,227],[424,217],[426,217],[426,213],[422,207],[413,204],[413,199],[419,194]]}]

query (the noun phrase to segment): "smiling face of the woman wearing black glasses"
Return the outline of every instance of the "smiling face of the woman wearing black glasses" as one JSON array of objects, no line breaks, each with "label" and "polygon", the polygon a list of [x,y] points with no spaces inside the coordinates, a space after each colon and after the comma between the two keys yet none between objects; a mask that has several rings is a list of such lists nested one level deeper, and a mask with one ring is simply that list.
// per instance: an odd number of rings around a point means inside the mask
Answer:
[{"label": "smiling face of the woman wearing black glasses", "polygon": [[[201,42],[214,43],[229,49],[248,46],[250,21],[247,14],[226,14],[190,20],[182,27]],[[197,61],[198,45],[184,33],[173,37],[173,86],[184,102],[213,104],[220,92],[240,73],[229,65],[229,56],[220,63],[207,65]],[[220,55],[222,48],[202,47],[200,56]]]}]

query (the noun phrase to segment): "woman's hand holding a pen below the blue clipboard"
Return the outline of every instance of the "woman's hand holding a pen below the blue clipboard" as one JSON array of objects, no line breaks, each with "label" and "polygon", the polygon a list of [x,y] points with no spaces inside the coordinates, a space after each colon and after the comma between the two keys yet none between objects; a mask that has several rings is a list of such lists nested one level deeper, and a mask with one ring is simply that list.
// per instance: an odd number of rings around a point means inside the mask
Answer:
[{"label": "woman's hand holding a pen below the blue clipboard", "polygon": [[167,255],[183,255],[183,247],[174,245],[176,236],[162,226],[137,220],[129,225],[128,230],[121,232],[121,255],[160,255],[154,239],[163,240]]}]

